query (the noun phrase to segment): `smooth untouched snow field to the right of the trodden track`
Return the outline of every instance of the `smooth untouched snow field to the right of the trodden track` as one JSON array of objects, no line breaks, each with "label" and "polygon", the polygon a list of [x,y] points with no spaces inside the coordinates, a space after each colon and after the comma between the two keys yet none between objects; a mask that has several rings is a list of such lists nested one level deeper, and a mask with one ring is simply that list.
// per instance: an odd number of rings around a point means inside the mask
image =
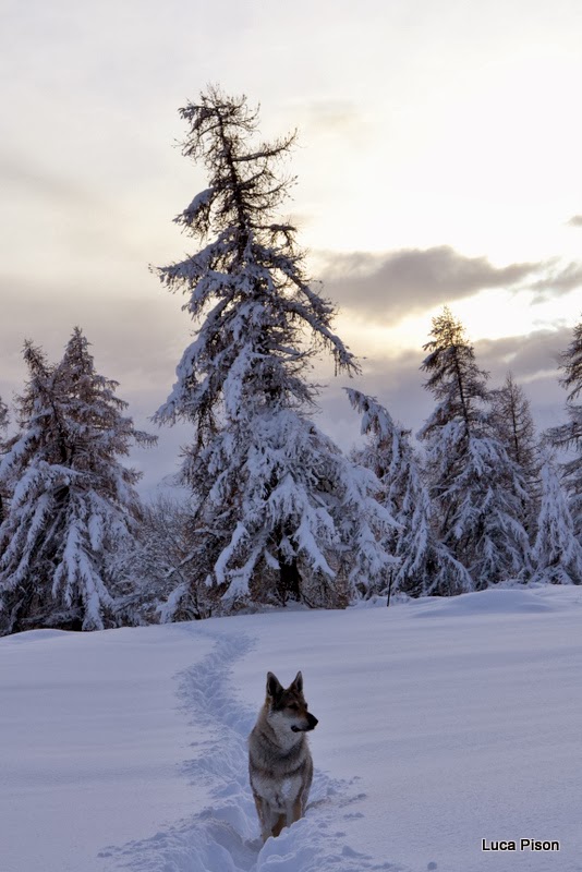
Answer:
[{"label": "smooth untouched snow field to the right of the trodden track", "polygon": [[[493,590],[310,613],[291,637],[275,615],[234,675],[303,669],[316,770],[360,778],[361,816],[337,818],[351,849],[414,872],[579,872],[581,605]],[[560,853],[481,851],[533,832]]]}]

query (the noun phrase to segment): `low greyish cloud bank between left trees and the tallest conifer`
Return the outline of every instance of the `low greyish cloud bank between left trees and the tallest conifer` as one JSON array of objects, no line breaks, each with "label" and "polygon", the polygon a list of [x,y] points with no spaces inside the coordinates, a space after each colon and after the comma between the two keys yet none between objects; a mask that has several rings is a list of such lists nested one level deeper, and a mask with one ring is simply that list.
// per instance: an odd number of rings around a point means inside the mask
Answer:
[{"label": "low greyish cloud bank between left trees and the tallest conifer", "polygon": [[50,361],[58,361],[78,325],[92,343],[97,371],[120,383],[117,393],[129,402],[128,414],[136,427],[158,436],[154,448],[134,446],[126,461],[145,473],[140,489],[149,493],[178,471],[180,448],[192,438],[187,425],[158,428],[149,421],[175,382],[175,365],[191,341],[192,322],[179,301],[156,283],[146,287],[140,302],[119,296],[114,310],[104,304],[99,287],[76,294],[72,290],[0,276],[0,397],[11,403],[13,395],[22,392],[27,377],[22,359],[25,338],[41,346]]}]

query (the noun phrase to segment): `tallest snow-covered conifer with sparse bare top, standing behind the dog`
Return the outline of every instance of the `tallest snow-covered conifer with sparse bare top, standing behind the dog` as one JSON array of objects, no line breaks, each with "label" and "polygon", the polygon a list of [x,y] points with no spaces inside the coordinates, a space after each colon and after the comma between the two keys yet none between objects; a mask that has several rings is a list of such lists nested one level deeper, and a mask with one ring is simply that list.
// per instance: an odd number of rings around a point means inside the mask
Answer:
[{"label": "tallest snow-covered conifer with sparse bare top, standing behind the dog", "polygon": [[209,173],[175,219],[203,247],[158,270],[187,294],[198,325],[156,414],[194,425],[182,481],[197,545],[183,597],[195,603],[206,583],[228,608],[248,597],[340,603],[342,586],[385,571],[376,536],[385,512],[374,477],[310,417],[317,386],[306,371],[319,348],[337,371],[357,367],[331,330],[334,306],[310,286],[295,228],[277,215],[291,180],[276,169],[294,136],[256,142],[257,112],[217,88],[181,116],[183,153]]}]

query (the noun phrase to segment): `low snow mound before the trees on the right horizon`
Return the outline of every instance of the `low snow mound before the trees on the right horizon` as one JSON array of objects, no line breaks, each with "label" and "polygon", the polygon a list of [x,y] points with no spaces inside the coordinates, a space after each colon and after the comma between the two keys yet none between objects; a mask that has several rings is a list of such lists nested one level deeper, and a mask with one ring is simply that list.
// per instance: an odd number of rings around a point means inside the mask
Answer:
[{"label": "low snow mound before the trees on the right horizon", "polygon": [[533,591],[518,590],[487,590],[473,593],[463,593],[446,600],[431,600],[429,603],[419,604],[415,617],[431,618],[433,616],[451,617],[454,615],[513,615],[522,611],[525,614],[538,611],[556,611],[559,605],[543,601]]}]

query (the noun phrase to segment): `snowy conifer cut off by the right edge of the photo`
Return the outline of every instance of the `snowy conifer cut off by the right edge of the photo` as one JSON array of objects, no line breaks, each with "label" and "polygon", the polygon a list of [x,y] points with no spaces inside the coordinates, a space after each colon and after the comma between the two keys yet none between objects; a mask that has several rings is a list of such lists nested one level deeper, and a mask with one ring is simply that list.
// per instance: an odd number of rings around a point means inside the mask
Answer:
[{"label": "snowy conifer cut off by the right edge of the photo", "polygon": [[582,544],[582,403],[575,402],[582,392],[582,320],[574,327],[572,341],[560,356],[563,371],[560,384],[568,391],[566,411],[569,420],[553,427],[548,435],[556,448],[569,452],[563,464],[562,484],[569,495],[574,533]]}]

